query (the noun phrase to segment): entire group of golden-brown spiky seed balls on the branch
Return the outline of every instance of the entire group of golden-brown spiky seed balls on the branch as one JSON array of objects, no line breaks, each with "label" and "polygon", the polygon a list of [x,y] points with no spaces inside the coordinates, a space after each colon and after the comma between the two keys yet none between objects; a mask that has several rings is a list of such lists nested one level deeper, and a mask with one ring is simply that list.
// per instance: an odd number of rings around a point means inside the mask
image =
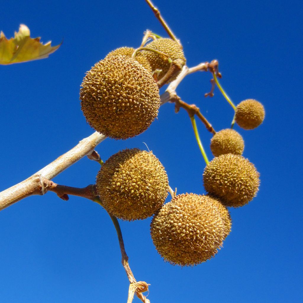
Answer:
[{"label": "entire group of golden-brown spiky seed balls on the branch", "polygon": [[[169,56],[185,58],[179,44],[156,39],[146,45]],[[96,63],[86,74],[80,91],[82,111],[98,132],[126,139],[145,131],[158,114],[159,90],[153,76],[161,79],[169,69],[163,56],[148,50],[118,48]],[[172,80],[172,79],[171,79]],[[264,119],[264,108],[255,100],[242,101],[235,121],[253,129]],[[106,210],[123,220],[145,219],[153,215],[151,238],[165,261],[191,266],[213,257],[231,231],[227,206],[247,204],[256,195],[259,174],[242,157],[244,141],[232,129],[217,132],[211,140],[215,158],[204,170],[207,195],[168,195],[168,177],[152,152],[138,148],[112,155],[102,165],[96,189]]]}]

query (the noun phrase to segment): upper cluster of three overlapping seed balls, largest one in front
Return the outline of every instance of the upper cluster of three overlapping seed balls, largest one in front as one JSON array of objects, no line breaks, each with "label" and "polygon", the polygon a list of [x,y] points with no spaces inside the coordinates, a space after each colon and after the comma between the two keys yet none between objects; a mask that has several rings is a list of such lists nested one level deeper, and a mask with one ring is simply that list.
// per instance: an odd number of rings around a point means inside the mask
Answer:
[{"label": "upper cluster of three overlapping seed balls, largest one in front", "polygon": [[136,52],[134,58],[134,48],[118,48],[87,72],[80,90],[81,108],[97,132],[127,139],[144,132],[157,117],[160,96],[154,73],[160,80],[168,72],[167,57],[183,65],[186,60],[178,42],[169,38],[156,39],[146,48],[155,52]]}]

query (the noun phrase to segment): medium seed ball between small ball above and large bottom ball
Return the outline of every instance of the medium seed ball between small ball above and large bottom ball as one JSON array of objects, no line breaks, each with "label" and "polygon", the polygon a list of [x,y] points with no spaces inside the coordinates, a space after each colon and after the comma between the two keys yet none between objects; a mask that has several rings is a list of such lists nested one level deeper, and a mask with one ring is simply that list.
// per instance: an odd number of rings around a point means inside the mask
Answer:
[{"label": "medium seed ball between small ball above and large bottom ball", "polygon": [[259,173],[255,166],[239,155],[215,157],[203,173],[204,188],[226,206],[239,207],[255,197],[259,189]]}]

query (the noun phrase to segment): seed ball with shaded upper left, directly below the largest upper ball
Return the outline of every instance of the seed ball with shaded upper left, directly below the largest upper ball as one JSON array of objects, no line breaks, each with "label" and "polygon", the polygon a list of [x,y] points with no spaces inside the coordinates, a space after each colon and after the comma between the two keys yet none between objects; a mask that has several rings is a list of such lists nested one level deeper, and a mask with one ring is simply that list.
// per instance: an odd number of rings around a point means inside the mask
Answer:
[{"label": "seed ball with shaded upper left, directly below the largest upper ball", "polygon": [[125,149],[102,165],[96,188],[107,211],[132,221],[150,217],[163,205],[168,178],[152,152]]}]

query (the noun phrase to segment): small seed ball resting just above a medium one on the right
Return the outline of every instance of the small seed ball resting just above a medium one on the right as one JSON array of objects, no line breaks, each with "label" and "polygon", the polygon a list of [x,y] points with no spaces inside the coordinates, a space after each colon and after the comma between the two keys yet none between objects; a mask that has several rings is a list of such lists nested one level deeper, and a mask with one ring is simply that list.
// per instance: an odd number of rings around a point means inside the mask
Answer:
[{"label": "small seed ball resting just above a medium one on the right", "polygon": [[244,140],[234,129],[222,129],[211,138],[210,149],[215,157],[228,153],[242,155]]}]

